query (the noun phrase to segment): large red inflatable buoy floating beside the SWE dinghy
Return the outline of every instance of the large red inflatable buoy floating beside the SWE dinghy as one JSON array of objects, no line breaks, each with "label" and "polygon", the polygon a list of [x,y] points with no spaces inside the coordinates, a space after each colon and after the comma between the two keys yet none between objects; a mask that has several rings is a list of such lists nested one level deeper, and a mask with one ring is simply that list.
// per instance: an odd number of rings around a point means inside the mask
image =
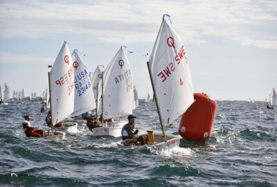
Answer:
[{"label": "large red inflatable buoy floating beside the SWE dinghy", "polygon": [[187,141],[208,141],[213,129],[217,103],[206,94],[193,94],[195,103],[181,116],[179,134]]}]

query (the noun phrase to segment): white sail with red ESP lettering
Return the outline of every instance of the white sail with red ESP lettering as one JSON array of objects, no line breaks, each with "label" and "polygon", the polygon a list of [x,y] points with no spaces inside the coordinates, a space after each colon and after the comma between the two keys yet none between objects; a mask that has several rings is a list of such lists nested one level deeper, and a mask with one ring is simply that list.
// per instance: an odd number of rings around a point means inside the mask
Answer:
[{"label": "white sail with red ESP lettering", "polygon": [[74,109],[74,70],[69,48],[64,42],[50,72],[53,124],[63,121]]}]

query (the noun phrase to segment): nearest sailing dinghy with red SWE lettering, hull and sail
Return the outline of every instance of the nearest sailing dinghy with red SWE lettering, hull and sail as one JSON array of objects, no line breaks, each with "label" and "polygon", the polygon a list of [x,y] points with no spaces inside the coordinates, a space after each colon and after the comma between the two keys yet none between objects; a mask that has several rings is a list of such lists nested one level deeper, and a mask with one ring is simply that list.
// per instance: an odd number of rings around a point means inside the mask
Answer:
[{"label": "nearest sailing dinghy with red SWE lettering, hull and sail", "polygon": [[193,103],[193,87],[184,42],[164,16],[147,64],[162,134],[148,131],[148,134],[141,135],[145,145],[126,146],[119,141],[118,148],[154,146],[170,149],[179,146],[181,137],[166,135],[164,127],[186,112]]}]

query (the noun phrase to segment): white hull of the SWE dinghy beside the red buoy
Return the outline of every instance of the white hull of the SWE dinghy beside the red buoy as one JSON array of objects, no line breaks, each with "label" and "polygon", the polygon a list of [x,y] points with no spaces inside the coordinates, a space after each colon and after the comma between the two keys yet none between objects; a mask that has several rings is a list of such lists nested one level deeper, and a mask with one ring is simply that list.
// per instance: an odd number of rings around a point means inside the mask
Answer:
[{"label": "white hull of the SWE dinghy beside the red buoy", "polygon": [[[142,134],[140,136],[148,136],[147,134]],[[116,145],[118,145],[118,148],[121,149],[130,149],[130,148],[154,148],[157,150],[163,150],[163,149],[172,149],[175,147],[179,147],[181,137],[175,136],[173,134],[166,135],[168,141],[163,141],[163,134],[154,134],[155,143],[147,143],[145,145],[124,145],[122,141],[116,142]]]}]

